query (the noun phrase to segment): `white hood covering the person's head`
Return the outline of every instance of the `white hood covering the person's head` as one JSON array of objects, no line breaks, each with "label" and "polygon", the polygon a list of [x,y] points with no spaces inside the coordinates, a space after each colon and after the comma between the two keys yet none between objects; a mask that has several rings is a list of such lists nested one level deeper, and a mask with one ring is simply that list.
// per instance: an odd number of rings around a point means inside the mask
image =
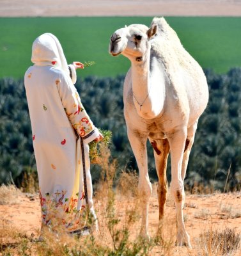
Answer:
[{"label": "white hood covering the person's head", "polygon": [[35,39],[31,61],[37,66],[52,65],[69,75],[68,64],[61,44],[58,38],[51,33],[45,33]]}]

